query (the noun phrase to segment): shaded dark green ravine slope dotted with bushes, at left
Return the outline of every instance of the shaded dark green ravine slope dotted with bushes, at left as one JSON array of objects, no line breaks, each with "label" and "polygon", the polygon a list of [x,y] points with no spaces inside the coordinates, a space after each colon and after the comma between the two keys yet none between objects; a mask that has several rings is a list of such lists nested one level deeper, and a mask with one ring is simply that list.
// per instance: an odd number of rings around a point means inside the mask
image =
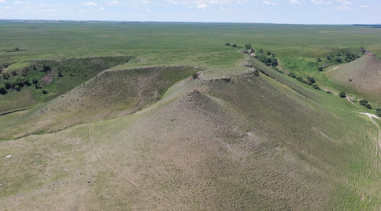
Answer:
[{"label": "shaded dark green ravine slope dotted with bushes, at left", "polygon": [[30,96],[25,98],[22,94],[13,94],[13,100],[25,101],[19,105],[14,105],[13,101],[3,101],[0,112],[49,101],[83,84],[103,70],[127,63],[131,58],[133,57],[114,56],[28,61],[30,65],[11,71],[11,75],[9,71],[1,73],[0,84],[4,84],[4,87],[0,87],[0,94],[27,89],[24,92]]}]

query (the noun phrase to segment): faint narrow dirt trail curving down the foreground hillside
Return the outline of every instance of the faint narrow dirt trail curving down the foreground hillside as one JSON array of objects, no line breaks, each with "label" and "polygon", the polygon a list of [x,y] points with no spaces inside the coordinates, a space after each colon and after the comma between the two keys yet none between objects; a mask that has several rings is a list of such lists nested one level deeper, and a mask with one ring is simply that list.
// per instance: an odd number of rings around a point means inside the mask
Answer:
[{"label": "faint narrow dirt trail curving down the foreground hillside", "polygon": [[[101,158],[101,156],[99,156],[99,153],[98,151],[96,150],[96,146],[93,142],[93,136],[91,136],[91,125],[89,124],[89,139],[91,141],[91,145],[93,146],[93,150],[95,151],[96,153],[96,157],[102,162],[103,165],[105,165],[105,167],[107,167],[109,170],[111,170],[112,172],[114,172],[115,174],[118,174],[120,175],[120,177],[123,177],[124,179],[126,179],[127,181],[129,181],[130,184],[132,184],[133,186],[135,186],[139,191],[141,191],[141,193],[143,193],[144,195],[146,195],[147,198],[150,198],[151,200],[152,199],[152,196],[155,196],[157,198],[159,198],[160,200],[162,200],[164,203],[166,203],[169,207],[174,207],[173,205],[171,205],[169,203],[169,200],[165,199],[165,198],[162,198],[160,197],[157,193],[155,193],[154,191],[152,190],[149,190],[147,188],[142,188],[141,186],[139,186],[136,182],[132,181],[131,179],[129,179],[128,177],[125,177],[124,174],[118,172],[117,170],[115,170],[112,166],[108,165],[108,162],[106,162],[105,160],[103,160],[103,158]],[[153,202],[155,203],[156,201],[153,200]],[[183,205],[183,207],[185,207],[187,210],[189,210],[188,207],[186,207],[185,205]]]}]

